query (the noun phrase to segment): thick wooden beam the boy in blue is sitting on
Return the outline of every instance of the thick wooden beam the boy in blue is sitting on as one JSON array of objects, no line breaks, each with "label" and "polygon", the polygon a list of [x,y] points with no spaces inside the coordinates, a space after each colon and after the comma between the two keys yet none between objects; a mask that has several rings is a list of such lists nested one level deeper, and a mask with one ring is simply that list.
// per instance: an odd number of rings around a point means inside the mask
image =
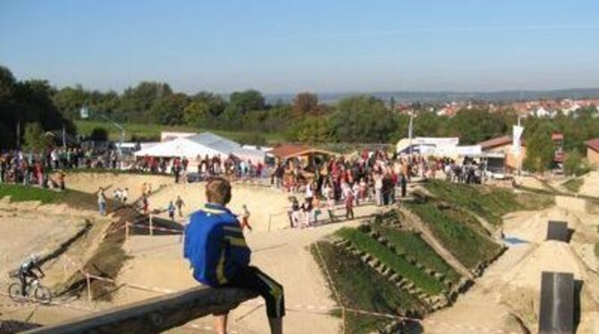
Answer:
[{"label": "thick wooden beam the boy in blue is sitting on", "polygon": [[257,294],[240,288],[199,286],[122,305],[28,333],[157,333],[237,307]]}]

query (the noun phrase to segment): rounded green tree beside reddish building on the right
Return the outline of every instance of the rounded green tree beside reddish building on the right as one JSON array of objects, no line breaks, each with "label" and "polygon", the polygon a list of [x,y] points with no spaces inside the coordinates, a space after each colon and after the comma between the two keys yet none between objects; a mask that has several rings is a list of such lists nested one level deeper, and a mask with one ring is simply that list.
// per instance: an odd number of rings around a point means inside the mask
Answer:
[{"label": "rounded green tree beside reddish building on the right", "polygon": [[551,135],[551,127],[542,125],[526,136],[527,157],[524,167],[527,170],[544,172],[552,167],[555,147]]}]

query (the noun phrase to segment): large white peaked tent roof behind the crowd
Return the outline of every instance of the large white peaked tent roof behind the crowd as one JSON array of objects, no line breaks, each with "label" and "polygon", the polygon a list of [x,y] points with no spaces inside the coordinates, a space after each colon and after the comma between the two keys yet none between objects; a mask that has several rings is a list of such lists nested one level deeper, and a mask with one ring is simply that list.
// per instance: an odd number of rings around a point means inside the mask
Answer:
[{"label": "large white peaked tent roof behind the crowd", "polygon": [[251,160],[252,162],[263,162],[265,157],[265,153],[261,150],[241,147],[232,140],[216,136],[210,132],[203,132],[185,138],[175,138],[141,149],[135,153],[136,156],[185,156],[190,161],[195,161],[198,156],[202,158],[206,155],[210,157],[215,155],[226,157],[229,154],[233,154],[242,160]]}]

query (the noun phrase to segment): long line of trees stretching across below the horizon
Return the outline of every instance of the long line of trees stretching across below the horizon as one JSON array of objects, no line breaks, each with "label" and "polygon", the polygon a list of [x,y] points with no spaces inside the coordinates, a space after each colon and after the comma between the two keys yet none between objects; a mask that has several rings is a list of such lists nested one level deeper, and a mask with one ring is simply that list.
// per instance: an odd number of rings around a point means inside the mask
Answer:
[{"label": "long line of trees stretching across below the horizon", "polygon": [[[288,141],[306,143],[394,143],[408,136],[409,115],[398,113],[394,101],[357,95],[336,104],[323,104],[314,93],[299,93],[291,103],[268,103],[256,89],[222,96],[212,92],[175,92],[167,83],[143,81],[122,93],[100,92],[81,86],[54,88],[48,81],[19,81],[0,66],[0,140],[2,147],[16,143],[16,124],[35,122],[43,130],[66,129],[76,132],[73,121],[80,108],[104,113],[114,121],[188,125],[198,129],[242,130],[256,134],[253,141],[263,144],[260,134],[283,133]],[[440,116],[429,104],[411,104],[415,114],[414,136],[459,137],[464,145],[510,134],[518,121],[513,110],[492,113],[485,104],[464,108],[455,116]],[[547,163],[553,132],[564,134],[567,151],[584,153],[584,142],[599,136],[596,108],[588,107],[554,119],[528,117],[524,120],[528,149],[538,168]],[[21,136],[23,133],[21,133]],[[535,147],[537,143],[543,147]],[[551,144],[553,147],[553,144]],[[531,163],[535,168],[535,163]]]}]

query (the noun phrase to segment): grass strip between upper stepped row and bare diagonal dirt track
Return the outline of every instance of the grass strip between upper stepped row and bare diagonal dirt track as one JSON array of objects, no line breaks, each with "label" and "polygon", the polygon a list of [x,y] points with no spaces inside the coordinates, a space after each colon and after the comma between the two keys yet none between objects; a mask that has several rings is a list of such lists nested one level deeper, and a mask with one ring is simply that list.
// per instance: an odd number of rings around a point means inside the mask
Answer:
[{"label": "grass strip between upper stepped row and bare diagonal dirt track", "polygon": [[398,252],[415,258],[418,263],[424,264],[427,268],[445,274],[452,282],[460,280],[460,274],[445,263],[443,258],[437,255],[418,234],[381,225],[375,225],[374,228],[389,240]]}]

